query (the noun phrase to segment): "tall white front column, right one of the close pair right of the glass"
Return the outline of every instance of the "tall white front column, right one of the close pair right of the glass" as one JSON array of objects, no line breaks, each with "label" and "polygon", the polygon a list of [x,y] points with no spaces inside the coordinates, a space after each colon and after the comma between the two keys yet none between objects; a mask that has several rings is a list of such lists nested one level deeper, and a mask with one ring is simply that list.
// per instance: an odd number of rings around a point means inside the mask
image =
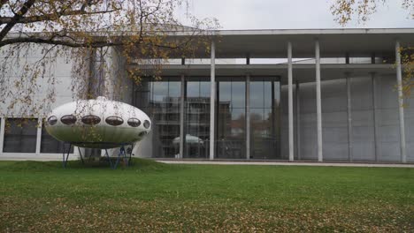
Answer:
[{"label": "tall white front column, right one of the close pair right of the glass", "polygon": [[317,92],[317,127],[318,127],[318,162],[323,161],[322,154],[322,103],[320,97],[320,49],[319,41],[315,41],[316,60],[316,92]]}]

